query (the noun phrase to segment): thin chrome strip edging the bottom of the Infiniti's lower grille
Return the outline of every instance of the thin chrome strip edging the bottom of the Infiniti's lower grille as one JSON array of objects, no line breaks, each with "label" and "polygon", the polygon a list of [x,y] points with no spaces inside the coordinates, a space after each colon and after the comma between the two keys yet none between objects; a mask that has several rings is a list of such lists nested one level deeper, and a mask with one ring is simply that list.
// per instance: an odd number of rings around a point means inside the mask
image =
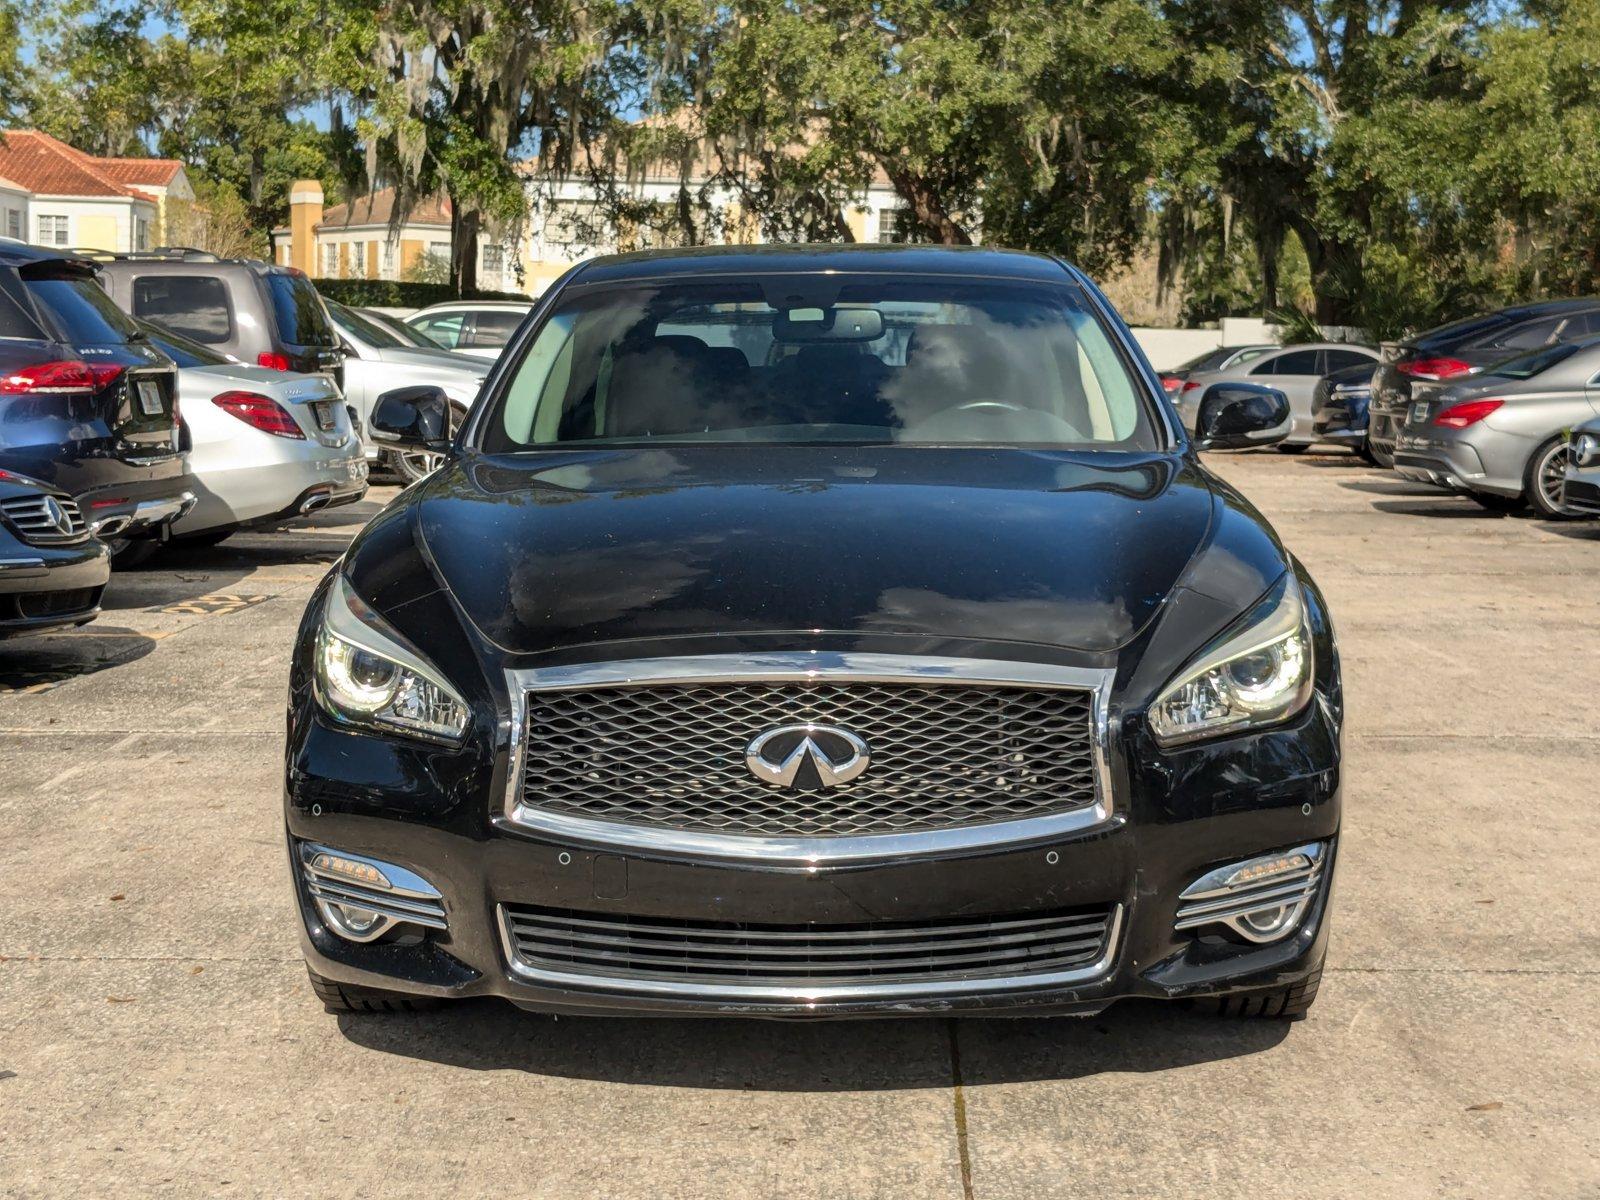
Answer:
[{"label": "thin chrome strip edging the bottom of the Infiniti's lower grille", "polygon": [[504,904],[494,906],[499,925],[501,950],[512,976],[530,984],[568,987],[598,992],[643,992],[683,1000],[755,1000],[771,1003],[832,1003],[832,1002],[882,1002],[912,997],[947,998],[957,995],[992,995],[997,992],[1042,990],[1069,987],[1104,978],[1117,960],[1122,936],[1122,904],[1110,906],[1106,923],[1106,949],[1099,958],[1069,971],[1037,971],[1019,974],[992,974],[974,979],[918,979],[880,984],[821,984],[811,987],[784,987],[778,984],[718,984],[709,979],[640,979],[592,974],[586,971],[554,971],[546,966],[530,966],[517,954],[510,933],[510,917]]}]

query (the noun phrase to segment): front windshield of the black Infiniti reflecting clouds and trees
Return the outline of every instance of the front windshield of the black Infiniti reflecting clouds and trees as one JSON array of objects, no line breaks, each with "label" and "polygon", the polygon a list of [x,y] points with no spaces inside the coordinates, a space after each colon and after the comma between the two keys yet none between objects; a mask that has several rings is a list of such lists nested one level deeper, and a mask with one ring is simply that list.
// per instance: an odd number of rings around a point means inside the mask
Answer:
[{"label": "front windshield of the black Infiniti reflecting clouds and trees", "polygon": [[490,453],[618,442],[1154,450],[1077,288],[779,275],[605,288],[544,323]]}]

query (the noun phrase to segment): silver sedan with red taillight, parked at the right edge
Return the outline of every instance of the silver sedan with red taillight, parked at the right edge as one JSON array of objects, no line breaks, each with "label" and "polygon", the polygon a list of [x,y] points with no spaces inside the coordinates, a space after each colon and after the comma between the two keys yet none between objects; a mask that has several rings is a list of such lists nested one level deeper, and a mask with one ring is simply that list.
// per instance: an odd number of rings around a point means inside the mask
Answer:
[{"label": "silver sedan with red taillight, parked at the right edge", "polygon": [[1411,384],[1395,470],[1486,509],[1579,515],[1562,498],[1568,434],[1600,416],[1600,338],[1547,346],[1461,384]]}]

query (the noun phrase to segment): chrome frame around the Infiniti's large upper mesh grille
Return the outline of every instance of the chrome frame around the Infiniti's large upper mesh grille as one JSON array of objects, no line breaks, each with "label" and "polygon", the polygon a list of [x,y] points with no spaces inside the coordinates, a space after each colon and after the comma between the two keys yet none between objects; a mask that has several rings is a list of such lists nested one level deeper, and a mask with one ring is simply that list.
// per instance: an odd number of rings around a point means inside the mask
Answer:
[{"label": "chrome frame around the Infiniti's large upper mesh grille", "polygon": [[[514,829],[582,842],[603,850],[683,854],[691,858],[755,861],[762,866],[822,867],[845,862],[899,859],[987,850],[1082,834],[1107,824],[1114,813],[1109,766],[1109,701],[1115,672],[1059,667],[1003,659],[930,658],[918,654],[861,654],[850,651],[778,651],[765,654],[702,654],[685,658],[621,659],[566,667],[507,670],[510,691],[510,755],[506,771],[502,819]],[[810,680],[858,683],[950,683],[997,688],[1066,688],[1088,691],[1093,712],[1094,803],[1069,813],[997,821],[984,826],[928,829],[856,837],[754,837],[699,830],[630,826],[619,821],[549,813],[523,803],[530,691],[661,686],[677,683],[794,683]]]}]

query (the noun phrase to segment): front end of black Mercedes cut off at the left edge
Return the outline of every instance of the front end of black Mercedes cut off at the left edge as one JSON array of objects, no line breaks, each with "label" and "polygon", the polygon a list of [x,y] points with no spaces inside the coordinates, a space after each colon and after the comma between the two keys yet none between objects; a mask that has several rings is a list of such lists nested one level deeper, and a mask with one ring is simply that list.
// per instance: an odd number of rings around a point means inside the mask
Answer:
[{"label": "front end of black Mercedes cut off at the left edge", "polygon": [[93,621],[109,576],[70,496],[0,470],[0,638]]}]

